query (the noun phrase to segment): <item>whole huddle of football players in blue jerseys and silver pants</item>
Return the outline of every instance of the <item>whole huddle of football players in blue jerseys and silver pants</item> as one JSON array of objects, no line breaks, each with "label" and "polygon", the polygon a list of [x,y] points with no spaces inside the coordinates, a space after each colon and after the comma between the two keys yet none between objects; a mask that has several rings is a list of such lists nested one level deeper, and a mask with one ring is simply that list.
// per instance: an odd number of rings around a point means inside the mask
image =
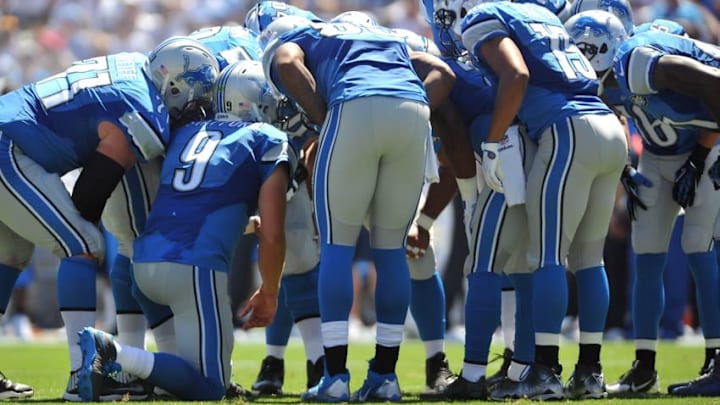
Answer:
[{"label": "whole huddle of football players in blue jerseys and silver pants", "polygon": [[[0,96],[0,314],[36,245],[62,258],[65,400],[250,395],[231,381],[227,292],[235,246],[249,232],[261,283],[240,316],[246,328],[266,327],[268,343],[253,395],[282,394],[295,325],[307,357],[303,401],[400,401],[408,309],[425,346],[423,399],[658,392],[659,269],[681,209],[705,361],[700,377],[667,390],[720,396],[720,48],[672,21],[634,26],[626,0],[421,6],[434,40],[361,12],[324,21],[263,1],[244,26],[76,62]],[[628,120],[643,143],[637,167]],[[68,192],[60,177],[76,169]],[[637,253],[636,358],[606,384],[603,246],[619,184]],[[457,375],[444,353],[429,233],[456,193],[470,252]],[[119,245],[116,336],[93,327],[100,224]],[[377,334],[351,392],[348,318],[363,226],[377,269]],[[577,282],[580,338],[563,383],[566,271]],[[505,361],[487,375],[499,324]],[[148,327],[156,352],[145,349]],[[0,382],[0,399],[33,395]]]}]

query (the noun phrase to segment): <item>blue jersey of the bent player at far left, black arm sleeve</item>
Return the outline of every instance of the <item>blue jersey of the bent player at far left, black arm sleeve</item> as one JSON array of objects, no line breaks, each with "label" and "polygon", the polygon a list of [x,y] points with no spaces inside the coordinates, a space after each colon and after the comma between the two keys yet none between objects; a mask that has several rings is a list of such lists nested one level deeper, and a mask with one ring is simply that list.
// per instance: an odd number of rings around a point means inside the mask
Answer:
[{"label": "blue jersey of the bent player at far left, black arm sleeve", "polygon": [[169,117],[145,75],[146,63],[141,53],[100,56],[0,96],[0,132],[58,174],[92,156],[101,121],[125,132],[140,161],[160,156],[170,136]]}]

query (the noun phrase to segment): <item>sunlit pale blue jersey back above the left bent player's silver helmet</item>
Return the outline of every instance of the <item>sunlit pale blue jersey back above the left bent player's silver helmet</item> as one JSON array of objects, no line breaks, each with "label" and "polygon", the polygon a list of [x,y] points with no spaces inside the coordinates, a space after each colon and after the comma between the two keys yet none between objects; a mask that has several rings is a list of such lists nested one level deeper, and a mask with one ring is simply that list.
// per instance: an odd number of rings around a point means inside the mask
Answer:
[{"label": "sunlit pale blue jersey back above the left bent player's silver helmet", "polygon": [[207,27],[194,31],[191,38],[202,42],[215,56],[220,70],[241,60],[260,60],[262,50],[254,32],[241,26]]}]

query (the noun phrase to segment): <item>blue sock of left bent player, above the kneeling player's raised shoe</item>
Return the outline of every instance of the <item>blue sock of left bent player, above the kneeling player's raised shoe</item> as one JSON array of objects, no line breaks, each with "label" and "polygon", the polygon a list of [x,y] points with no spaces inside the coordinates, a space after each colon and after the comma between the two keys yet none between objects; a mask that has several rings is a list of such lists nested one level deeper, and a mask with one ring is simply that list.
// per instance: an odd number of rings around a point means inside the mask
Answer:
[{"label": "blue sock of left bent player, above the kneeling player's raised shoe", "polygon": [[67,257],[60,260],[57,295],[61,311],[95,311],[95,277],[98,266],[91,259]]}]

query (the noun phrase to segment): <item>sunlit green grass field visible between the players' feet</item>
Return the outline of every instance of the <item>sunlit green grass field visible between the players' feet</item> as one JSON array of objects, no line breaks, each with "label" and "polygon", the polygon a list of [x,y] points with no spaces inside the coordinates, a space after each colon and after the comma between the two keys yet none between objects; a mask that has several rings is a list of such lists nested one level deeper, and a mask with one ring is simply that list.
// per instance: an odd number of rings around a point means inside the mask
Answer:
[{"label": "sunlit green grass field visible between the players' feet", "polygon": [[[500,352],[498,348],[497,352]],[[351,389],[360,387],[365,377],[367,359],[372,356],[373,346],[370,344],[352,344],[350,346],[348,367],[352,380]],[[703,360],[702,347],[683,346],[663,343],[659,347],[658,371],[662,389],[668,384],[694,378]],[[462,364],[463,347],[460,344],[449,344],[448,358],[453,371],[458,371]],[[603,365],[608,382],[614,382],[626,371],[633,359],[631,343],[608,343],[603,348]],[[238,343],[233,353],[234,381],[249,387],[255,379],[264,357],[265,350],[259,343]],[[560,350],[561,361],[565,367],[563,377],[566,379],[572,372],[577,356],[577,345],[564,344]],[[499,366],[492,363],[491,372]],[[30,384],[35,388],[35,396],[24,402],[54,403],[62,402],[59,398],[65,389],[68,373],[68,356],[62,344],[2,344],[0,345],[0,370],[9,378]],[[400,385],[404,391],[403,402],[421,403],[417,394],[424,388],[425,356],[422,344],[412,340],[404,343],[400,351],[398,364]],[[299,340],[291,341],[285,360],[285,392],[281,398],[259,398],[251,402],[299,403],[299,394],[305,388],[305,360],[302,344]],[[224,401],[226,403],[241,401]],[[520,401],[530,403],[529,401]],[[569,402],[569,401],[568,401]],[[641,399],[613,398],[597,401],[577,401],[574,403],[602,404],[720,404],[720,398],[672,398],[658,395]],[[141,402],[145,403],[145,402]]]}]

